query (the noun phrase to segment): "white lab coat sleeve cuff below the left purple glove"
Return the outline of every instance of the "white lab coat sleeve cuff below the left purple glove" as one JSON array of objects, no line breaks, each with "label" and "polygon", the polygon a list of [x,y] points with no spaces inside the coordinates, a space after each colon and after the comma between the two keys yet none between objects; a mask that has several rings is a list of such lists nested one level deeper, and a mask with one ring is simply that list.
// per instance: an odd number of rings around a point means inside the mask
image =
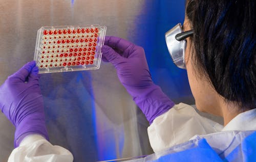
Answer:
[{"label": "white lab coat sleeve cuff below the left purple glove", "polygon": [[29,134],[9,156],[8,162],[71,162],[71,152],[60,146],[53,146],[39,134]]}]

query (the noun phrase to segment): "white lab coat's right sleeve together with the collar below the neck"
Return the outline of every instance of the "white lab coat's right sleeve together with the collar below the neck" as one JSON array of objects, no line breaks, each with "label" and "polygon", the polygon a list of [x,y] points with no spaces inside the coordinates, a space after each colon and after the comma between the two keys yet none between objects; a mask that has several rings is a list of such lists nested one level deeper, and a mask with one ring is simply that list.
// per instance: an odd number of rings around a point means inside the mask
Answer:
[{"label": "white lab coat's right sleeve together with the collar below the neck", "polygon": [[[235,131],[256,130],[256,109],[233,118],[225,127],[200,116],[190,105],[180,103],[157,117],[147,128],[154,152],[200,137],[225,134],[223,141],[234,137]],[[216,133],[220,132],[220,133]],[[205,136],[207,134],[207,136]]]}]

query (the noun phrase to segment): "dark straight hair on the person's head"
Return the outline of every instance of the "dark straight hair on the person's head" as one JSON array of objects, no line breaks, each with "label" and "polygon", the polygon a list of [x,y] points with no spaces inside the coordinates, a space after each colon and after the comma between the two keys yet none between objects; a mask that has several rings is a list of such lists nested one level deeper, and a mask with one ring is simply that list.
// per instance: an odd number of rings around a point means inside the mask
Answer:
[{"label": "dark straight hair on the person's head", "polygon": [[195,67],[226,101],[256,107],[255,0],[188,0]]}]

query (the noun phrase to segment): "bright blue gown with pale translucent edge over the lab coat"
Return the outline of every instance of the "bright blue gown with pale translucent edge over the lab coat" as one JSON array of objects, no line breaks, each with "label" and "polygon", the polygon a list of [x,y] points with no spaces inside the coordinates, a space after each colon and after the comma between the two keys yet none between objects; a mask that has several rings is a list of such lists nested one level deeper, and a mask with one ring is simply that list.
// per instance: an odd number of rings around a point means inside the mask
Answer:
[{"label": "bright blue gown with pale translucent edge over the lab coat", "polygon": [[[236,131],[231,141],[226,141],[225,133],[222,134],[218,139],[198,136],[167,150],[130,161],[256,161],[256,131]],[[222,147],[212,147],[214,143]]]}]

